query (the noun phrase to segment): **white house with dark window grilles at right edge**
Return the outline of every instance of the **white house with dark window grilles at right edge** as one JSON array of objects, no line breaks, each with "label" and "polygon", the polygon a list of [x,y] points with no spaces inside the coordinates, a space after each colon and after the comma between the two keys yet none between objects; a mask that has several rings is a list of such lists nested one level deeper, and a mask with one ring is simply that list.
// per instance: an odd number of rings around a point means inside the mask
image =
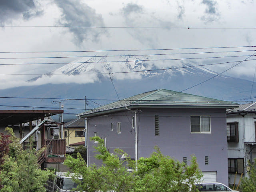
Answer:
[{"label": "white house with dark window grilles at right edge", "polygon": [[256,103],[243,104],[227,110],[228,176],[238,184],[241,174],[248,176],[250,166],[256,158]]}]

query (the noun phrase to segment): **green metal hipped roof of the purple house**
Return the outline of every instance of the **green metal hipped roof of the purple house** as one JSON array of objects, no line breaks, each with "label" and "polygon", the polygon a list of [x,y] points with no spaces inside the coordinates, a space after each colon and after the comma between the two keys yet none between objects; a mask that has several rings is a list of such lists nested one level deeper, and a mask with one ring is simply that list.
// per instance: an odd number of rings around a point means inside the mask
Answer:
[{"label": "green metal hipped roof of the purple house", "polygon": [[233,102],[226,102],[222,100],[176,92],[166,89],[153,90],[126,99],[116,101],[98,108],[82,112],[77,116],[87,117],[99,114],[106,114],[127,108],[141,108],[141,107],[158,107],[158,108],[173,108],[173,107],[186,107],[186,108],[236,108],[239,105]]}]

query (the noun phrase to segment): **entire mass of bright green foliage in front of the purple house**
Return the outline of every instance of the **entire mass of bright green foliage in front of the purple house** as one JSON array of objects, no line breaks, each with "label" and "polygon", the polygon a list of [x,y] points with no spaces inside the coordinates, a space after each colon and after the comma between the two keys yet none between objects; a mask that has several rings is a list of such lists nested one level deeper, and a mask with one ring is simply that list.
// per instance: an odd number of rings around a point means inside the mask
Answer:
[{"label": "entire mass of bright green foliage in front of the purple house", "polygon": [[[99,137],[91,140],[98,142],[95,146],[95,158],[102,161],[101,166],[86,163],[78,154],[74,159],[68,156],[64,162],[72,169],[72,172],[83,177],[76,190],[87,192],[188,192],[198,191],[195,182],[202,177],[198,169],[196,157],[191,157],[189,165],[180,163],[169,156],[164,156],[158,147],[149,158],[140,158],[135,169],[135,162],[121,149],[115,149],[110,154],[104,147],[104,141]],[[125,160],[120,157],[126,156]],[[134,171],[128,171],[133,167]]]}]

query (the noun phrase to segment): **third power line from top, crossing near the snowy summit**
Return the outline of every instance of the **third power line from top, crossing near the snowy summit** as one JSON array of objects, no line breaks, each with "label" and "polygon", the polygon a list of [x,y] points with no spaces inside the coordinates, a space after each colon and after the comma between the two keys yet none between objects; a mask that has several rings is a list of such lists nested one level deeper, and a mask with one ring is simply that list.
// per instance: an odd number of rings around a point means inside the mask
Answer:
[{"label": "third power line from top, crossing near the snowy summit", "polygon": [[240,50],[240,51],[216,51],[216,52],[196,52],[196,53],[165,53],[165,54],[134,54],[134,55],[102,55],[102,56],[61,56],[61,57],[9,57],[0,59],[48,59],[48,58],[90,58],[90,57],[122,57],[122,56],[163,56],[163,55],[183,55],[183,54],[209,54],[209,53],[232,53],[247,52],[256,50]]}]

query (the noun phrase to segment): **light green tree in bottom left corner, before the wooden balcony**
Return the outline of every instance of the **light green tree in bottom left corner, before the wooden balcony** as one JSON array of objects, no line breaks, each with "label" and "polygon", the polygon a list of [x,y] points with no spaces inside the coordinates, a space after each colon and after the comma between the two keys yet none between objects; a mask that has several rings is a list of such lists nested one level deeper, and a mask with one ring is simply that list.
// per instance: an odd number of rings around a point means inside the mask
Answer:
[{"label": "light green tree in bottom left corner, before the wooden balcony", "polygon": [[32,147],[22,150],[18,138],[14,136],[12,129],[7,128],[10,133],[11,143],[9,153],[4,156],[1,165],[0,182],[3,186],[1,192],[44,192],[44,183],[53,176],[49,170],[41,170],[37,164],[40,152]]}]

